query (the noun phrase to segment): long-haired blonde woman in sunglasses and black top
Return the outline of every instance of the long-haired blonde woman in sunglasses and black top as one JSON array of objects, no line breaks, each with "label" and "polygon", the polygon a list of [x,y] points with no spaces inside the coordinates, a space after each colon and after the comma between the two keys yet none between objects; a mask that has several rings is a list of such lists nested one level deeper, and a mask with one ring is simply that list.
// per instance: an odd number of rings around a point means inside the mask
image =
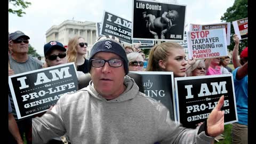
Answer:
[{"label": "long-haired blonde woman in sunglasses and black top", "polygon": [[75,36],[68,41],[68,62],[75,62],[77,71],[89,73],[88,63],[89,60],[85,58],[88,44],[81,36]]}]

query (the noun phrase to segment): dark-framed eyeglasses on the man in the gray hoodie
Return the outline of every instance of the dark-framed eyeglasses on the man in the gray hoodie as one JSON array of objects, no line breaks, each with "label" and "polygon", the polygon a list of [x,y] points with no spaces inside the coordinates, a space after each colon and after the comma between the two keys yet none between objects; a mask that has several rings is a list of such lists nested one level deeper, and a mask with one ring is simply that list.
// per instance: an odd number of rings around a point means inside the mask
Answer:
[{"label": "dark-framed eyeglasses on the man in the gray hoodie", "polygon": [[122,59],[110,59],[110,60],[92,59],[91,62],[92,62],[92,66],[95,68],[103,67],[106,62],[108,62],[108,65],[110,67],[121,67],[123,65]]}]

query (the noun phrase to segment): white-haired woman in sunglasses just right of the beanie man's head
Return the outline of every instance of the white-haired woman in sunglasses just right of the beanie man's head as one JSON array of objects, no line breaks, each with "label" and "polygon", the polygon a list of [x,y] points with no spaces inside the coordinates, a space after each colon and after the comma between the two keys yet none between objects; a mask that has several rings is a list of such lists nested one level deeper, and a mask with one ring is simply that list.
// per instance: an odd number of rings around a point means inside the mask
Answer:
[{"label": "white-haired woman in sunglasses just right of the beanie man's head", "polygon": [[143,57],[138,52],[131,52],[127,54],[127,59],[129,60],[129,70],[130,71],[144,71],[143,69]]}]

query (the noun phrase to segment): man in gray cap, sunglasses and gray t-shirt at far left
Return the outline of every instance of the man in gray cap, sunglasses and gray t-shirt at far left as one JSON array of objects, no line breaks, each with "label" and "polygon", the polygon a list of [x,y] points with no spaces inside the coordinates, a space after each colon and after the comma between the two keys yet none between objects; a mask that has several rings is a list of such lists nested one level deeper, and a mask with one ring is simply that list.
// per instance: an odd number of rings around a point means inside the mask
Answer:
[{"label": "man in gray cap, sunglasses and gray t-shirt at far left", "polygon": [[[28,55],[28,39],[30,39],[29,36],[25,35],[22,31],[15,31],[9,34],[9,50],[11,52],[9,54],[9,76],[42,68],[43,63],[41,61]],[[27,142],[31,143],[31,118],[17,119],[10,90],[9,95],[13,107],[12,113],[17,120],[20,134],[23,136],[23,133],[25,133]],[[9,134],[9,142],[13,143],[14,141],[15,139]]]}]

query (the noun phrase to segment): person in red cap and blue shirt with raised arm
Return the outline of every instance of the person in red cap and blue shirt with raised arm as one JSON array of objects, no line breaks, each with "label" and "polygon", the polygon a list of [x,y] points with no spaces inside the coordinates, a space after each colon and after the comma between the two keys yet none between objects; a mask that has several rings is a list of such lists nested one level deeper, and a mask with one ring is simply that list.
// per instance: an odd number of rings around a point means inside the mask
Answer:
[{"label": "person in red cap and blue shirt with raised arm", "polygon": [[237,59],[239,38],[233,37],[235,47],[233,50],[233,81],[236,95],[236,109],[238,122],[232,124],[231,135],[232,143],[248,143],[248,47],[240,54]]}]

